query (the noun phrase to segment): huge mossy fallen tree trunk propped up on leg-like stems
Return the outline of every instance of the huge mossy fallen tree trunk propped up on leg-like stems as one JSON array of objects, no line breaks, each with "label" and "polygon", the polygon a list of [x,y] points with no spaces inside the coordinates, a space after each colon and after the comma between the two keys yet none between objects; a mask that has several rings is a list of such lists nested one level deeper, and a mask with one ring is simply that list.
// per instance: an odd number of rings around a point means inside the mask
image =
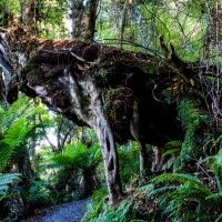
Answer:
[{"label": "huge mossy fallen tree trunk propped up on leg-like stems", "polygon": [[[183,85],[192,88],[191,67],[180,70],[171,58],[173,65],[169,68],[160,58],[95,42],[36,39],[22,28],[1,34],[0,49],[7,65],[10,63],[13,69],[12,77],[8,69],[8,101],[13,102],[18,91],[40,97],[51,110],[94,129],[102,149],[110,203],[122,195],[115,141],[138,141],[144,179],[145,143],[163,147],[183,137],[175,121],[175,102],[167,103],[164,94],[185,93]],[[182,81],[184,77],[188,81]],[[173,83],[171,88],[164,84],[169,81]]]}]

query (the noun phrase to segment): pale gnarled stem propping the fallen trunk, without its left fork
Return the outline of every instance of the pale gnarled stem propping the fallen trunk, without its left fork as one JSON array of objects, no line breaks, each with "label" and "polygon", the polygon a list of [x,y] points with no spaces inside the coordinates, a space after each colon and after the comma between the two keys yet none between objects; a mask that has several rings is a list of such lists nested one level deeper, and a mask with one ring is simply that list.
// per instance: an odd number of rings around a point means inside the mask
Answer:
[{"label": "pale gnarled stem propping the fallen trunk, without its left fork", "polygon": [[101,95],[93,89],[92,128],[94,129],[102,150],[105,180],[109,191],[109,203],[117,203],[122,196],[119,159],[112,129],[103,111]]}]

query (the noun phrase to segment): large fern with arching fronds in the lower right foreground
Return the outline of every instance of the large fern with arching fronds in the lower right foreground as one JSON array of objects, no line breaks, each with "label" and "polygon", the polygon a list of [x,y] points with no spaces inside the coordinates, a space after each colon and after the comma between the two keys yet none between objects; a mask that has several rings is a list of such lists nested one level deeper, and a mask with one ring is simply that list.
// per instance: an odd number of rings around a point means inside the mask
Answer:
[{"label": "large fern with arching fronds in the lower right foreground", "polygon": [[[214,194],[211,190],[205,186],[199,179],[195,176],[183,174],[183,173],[172,173],[172,174],[162,174],[151,180],[151,182],[163,182],[171,181],[176,182],[178,185],[167,185],[152,190],[148,196],[152,198],[154,195],[159,201],[160,205],[164,205],[164,214],[169,218],[173,216],[174,219],[180,219],[182,215],[183,205],[186,202],[196,203],[196,212],[192,211],[188,213],[186,218],[193,218],[194,214],[200,214],[201,218],[206,216],[203,209],[212,208],[214,210],[220,209],[219,194]],[[206,216],[209,219],[209,216]]]}]

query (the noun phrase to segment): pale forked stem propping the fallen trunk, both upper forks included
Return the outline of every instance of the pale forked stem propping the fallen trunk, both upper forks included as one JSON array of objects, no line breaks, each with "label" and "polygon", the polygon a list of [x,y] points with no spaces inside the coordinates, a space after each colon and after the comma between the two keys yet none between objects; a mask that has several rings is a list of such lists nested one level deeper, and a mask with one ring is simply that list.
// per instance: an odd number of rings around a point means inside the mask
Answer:
[{"label": "pale forked stem propping the fallen trunk, both upper forks included", "polygon": [[[122,188],[119,173],[119,159],[112,129],[105,117],[100,89],[95,87],[93,80],[88,78],[84,82],[84,94],[78,81],[69,73],[70,94],[79,119],[85,121],[97,133],[102,150],[104,172],[109,191],[109,203],[114,204],[122,196]],[[83,109],[83,101],[90,101],[90,114]]]}]

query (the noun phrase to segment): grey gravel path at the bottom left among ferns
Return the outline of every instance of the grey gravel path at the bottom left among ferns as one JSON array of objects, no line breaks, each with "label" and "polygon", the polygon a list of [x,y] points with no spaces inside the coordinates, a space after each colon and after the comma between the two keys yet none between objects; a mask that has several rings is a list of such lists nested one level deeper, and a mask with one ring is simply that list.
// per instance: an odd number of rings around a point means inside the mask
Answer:
[{"label": "grey gravel path at the bottom left among ferns", "polygon": [[22,222],[80,222],[88,203],[89,200],[82,200],[49,208],[40,215],[29,218]]}]

